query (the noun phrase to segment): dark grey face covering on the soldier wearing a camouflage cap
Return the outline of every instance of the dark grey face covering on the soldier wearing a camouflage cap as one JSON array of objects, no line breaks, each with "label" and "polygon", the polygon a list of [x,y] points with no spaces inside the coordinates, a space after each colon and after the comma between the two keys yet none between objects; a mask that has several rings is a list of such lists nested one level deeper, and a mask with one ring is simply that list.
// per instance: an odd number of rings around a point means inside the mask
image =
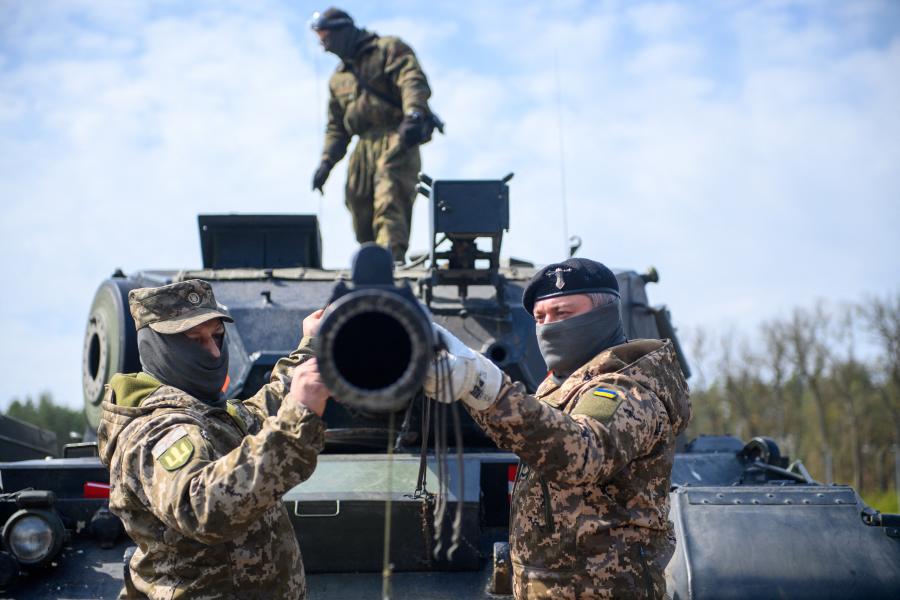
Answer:
[{"label": "dark grey face covering on the soldier wearing a camouflage cap", "polygon": [[228,345],[214,358],[203,346],[183,333],[165,335],[142,327],[138,330],[141,367],[160,382],[204,402],[216,402],[228,375]]}]

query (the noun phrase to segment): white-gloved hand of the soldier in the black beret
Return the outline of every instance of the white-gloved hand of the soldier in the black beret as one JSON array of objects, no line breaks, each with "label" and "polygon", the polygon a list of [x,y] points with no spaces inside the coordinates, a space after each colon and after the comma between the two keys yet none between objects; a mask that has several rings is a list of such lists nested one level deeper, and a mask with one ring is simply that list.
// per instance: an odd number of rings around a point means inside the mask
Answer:
[{"label": "white-gloved hand of the soldier in the black beret", "polygon": [[[475,410],[488,408],[500,394],[503,372],[486,356],[463,344],[440,325],[435,324],[434,330],[447,348],[449,377],[446,371],[439,371],[432,361],[425,377],[425,395],[439,402],[462,400]],[[441,389],[438,389],[438,383]]]}]

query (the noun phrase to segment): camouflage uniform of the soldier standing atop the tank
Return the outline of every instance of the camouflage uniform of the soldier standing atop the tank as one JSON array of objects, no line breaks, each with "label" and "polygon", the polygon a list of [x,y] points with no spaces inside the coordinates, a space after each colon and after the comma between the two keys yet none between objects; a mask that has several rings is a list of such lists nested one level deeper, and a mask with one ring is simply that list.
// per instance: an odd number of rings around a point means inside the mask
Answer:
[{"label": "camouflage uniform of the soldier standing atop the tank", "polygon": [[347,169],[345,196],[356,239],[375,241],[390,248],[395,260],[402,260],[409,245],[421,160],[418,146],[406,148],[400,143],[397,127],[404,114],[428,114],[431,90],[412,49],[395,37],[368,34],[351,65],[363,81],[396,98],[403,109],[361,89],[341,62],[328,85],[322,160],[337,163],[350,139],[359,136]]}]

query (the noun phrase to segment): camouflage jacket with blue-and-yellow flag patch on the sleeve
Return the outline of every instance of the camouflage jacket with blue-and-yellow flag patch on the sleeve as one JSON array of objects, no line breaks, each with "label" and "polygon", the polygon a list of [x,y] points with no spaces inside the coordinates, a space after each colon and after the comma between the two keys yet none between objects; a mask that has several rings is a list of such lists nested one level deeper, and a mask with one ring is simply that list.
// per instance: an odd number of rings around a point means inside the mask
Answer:
[{"label": "camouflage jacket with blue-and-yellow flag patch on the sleeve", "polygon": [[604,350],[534,396],[507,382],[475,420],[521,459],[510,514],[516,598],[661,598],[675,436],[690,419],[672,343]]}]

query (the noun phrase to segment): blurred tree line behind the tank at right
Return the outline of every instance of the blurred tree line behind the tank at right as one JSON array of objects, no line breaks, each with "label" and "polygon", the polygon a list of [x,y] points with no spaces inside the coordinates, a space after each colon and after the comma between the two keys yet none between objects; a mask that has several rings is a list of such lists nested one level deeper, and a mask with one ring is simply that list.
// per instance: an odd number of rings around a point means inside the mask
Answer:
[{"label": "blurred tree line behind the tank at right", "polygon": [[900,294],[796,308],[755,335],[686,338],[689,436],[771,437],[819,481],[900,512]]}]

